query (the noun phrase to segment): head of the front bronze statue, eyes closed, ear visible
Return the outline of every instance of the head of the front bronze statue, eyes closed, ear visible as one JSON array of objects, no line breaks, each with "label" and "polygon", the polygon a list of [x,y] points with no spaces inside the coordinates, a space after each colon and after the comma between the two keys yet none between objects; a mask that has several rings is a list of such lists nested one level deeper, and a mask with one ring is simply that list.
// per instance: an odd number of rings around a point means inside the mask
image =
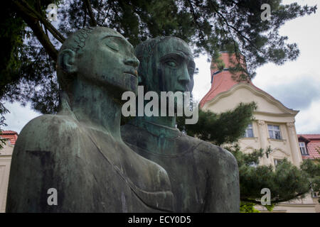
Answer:
[{"label": "head of the front bronze statue, eyes closed, ear visible", "polygon": [[[132,45],[111,28],[82,28],[69,36],[58,54],[58,82],[73,96],[73,82],[107,87],[121,100],[125,91],[137,92],[139,60]],[[89,88],[88,88],[89,89]]]}]

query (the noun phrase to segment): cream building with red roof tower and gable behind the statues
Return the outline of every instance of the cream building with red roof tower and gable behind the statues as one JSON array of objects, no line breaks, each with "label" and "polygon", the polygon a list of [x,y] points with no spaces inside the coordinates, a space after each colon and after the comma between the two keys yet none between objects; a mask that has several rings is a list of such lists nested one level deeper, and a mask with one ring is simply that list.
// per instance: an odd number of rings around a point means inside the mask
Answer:
[{"label": "cream building with red roof tower and gable behind the statues", "polygon": [[[200,106],[204,111],[210,110],[217,114],[235,109],[241,102],[255,101],[257,109],[254,111],[254,121],[250,123],[243,138],[238,141],[245,153],[255,149],[271,148],[269,157],[263,157],[261,165],[274,167],[287,158],[299,167],[302,162],[302,153],[299,148],[295,116],[299,111],[289,109],[280,101],[274,99],[267,92],[256,87],[250,79],[240,79],[238,74],[230,72],[230,67],[236,62],[235,55],[221,53],[220,60],[223,68],[212,62],[211,88],[201,99]],[[282,203],[274,208],[274,212],[315,212],[315,204],[311,196],[290,203]],[[260,208],[263,211],[262,207]]]}]

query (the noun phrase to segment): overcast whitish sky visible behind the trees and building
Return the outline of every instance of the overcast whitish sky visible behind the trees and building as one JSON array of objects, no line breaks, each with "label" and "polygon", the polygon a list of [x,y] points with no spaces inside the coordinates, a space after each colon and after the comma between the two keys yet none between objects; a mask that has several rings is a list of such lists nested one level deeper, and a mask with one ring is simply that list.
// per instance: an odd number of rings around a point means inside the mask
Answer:
[{"label": "overcast whitish sky visible behind the trees and building", "polygon": [[[290,2],[283,1],[284,4]],[[316,14],[289,21],[280,28],[281,35],[287,35],[289,42],[298,44],[298,59],[281,66],[264,65],[257,69],[252,82],[284,106],[300,111],[296,116],[297,133],[320,133],[320,4],[316,0],[297,2],[309,6],[318,3],[319,8]],[[210,89],[210,62],[204,55],[195,62],[199,73],[195,75],[193,96],[200,101]],[[11,113],[5,116],[8,126],[4,130],[20,133],[28,121],[40,115],[18,103],[5,106]]]}]

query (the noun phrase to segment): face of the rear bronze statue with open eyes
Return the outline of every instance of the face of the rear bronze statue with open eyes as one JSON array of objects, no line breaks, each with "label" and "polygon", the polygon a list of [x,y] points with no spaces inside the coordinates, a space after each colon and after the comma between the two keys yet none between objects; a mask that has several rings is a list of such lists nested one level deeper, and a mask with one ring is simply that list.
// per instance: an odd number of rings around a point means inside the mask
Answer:
[{"label": "face of the rear bronze statue with open eyes", "polygon": [[152,70],[149,72],[153,72],[152,78],[158,78],[158,92],[192,92],[195,63],[183,40],[169,38],[162,41],[151,58]]}]

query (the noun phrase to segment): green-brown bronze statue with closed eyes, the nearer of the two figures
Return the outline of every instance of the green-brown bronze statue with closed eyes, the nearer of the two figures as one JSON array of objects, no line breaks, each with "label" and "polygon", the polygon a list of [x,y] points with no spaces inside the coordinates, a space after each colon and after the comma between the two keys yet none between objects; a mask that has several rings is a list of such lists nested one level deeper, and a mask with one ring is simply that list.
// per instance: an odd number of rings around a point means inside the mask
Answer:
[{"label": "green-brown bronze statue with closed eyes, the nearer of the two figures", "polygon": [[[110,28],[85,28],[65,41],[58,55],[60,111],[21,131],[7,212],[173,210],[166,171],[120,135],[121,95],[137,92],[138,65],[132,45]],[[50,188],[58,205],[47,202]]]}]

